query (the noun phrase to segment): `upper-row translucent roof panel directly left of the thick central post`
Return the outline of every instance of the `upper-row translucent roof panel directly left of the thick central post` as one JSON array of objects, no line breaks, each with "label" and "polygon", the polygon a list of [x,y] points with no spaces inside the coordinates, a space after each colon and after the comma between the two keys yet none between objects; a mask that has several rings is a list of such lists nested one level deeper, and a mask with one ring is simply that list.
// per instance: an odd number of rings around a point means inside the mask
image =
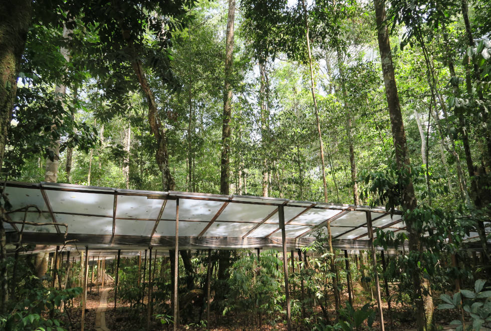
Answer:
[{"label": "upper-row translucent roof panel directly left of the thick central post", "polygon": [[248,205],[248,204],[234,204],[230,202],[217,221],[233,221],[233,222],[261,222],[274,211],[276,206],[265,205]]}]

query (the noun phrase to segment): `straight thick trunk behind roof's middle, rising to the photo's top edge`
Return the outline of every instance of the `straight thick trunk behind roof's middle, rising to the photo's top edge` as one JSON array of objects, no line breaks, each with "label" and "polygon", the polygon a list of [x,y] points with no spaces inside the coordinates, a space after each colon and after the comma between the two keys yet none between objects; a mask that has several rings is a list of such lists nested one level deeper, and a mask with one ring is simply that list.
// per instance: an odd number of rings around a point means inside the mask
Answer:
[{"label": "straight thick trunk behind roof's middle, rising to the photo's top edge", "polygon": [[223,85],[223,125],[221,130],[220,158],[220,194],[229,194],[230,172],[230,119],[232,116],[232,87],[230,78],[233,64],[233,22],[235,18],[235,0],[228,0],[228,18],[225,44],[225,82]]}]

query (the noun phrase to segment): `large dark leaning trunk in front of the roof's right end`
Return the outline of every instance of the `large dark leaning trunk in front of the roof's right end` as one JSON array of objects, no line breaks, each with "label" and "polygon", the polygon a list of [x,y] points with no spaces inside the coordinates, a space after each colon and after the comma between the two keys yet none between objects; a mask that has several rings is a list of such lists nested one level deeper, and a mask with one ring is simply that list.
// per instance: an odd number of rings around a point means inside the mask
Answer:
[{"label": "large dark leaning trunk in front of the roof's right end", "polygon": [[[375,15],[377,22],[377,37],[380,50],[382,72],[385,84],[385,94],[387,97],[387,105],[389,109],[390,124],[392,128],[392,139],[394,142],[395,156],[397,167],[401,172],[410,172],[410,159],[407,150],[406,134],[404,131],[404,123],[402,121],[401,106],[399,103],[399,95],[397,94],[397,85],[394,75],[394,67],[392,64],[392,55],[389,42],[389,31],[385,25],[385,1],[374,0]],[[417,207],[416,196],[411,178],[405,178],[407,183],[403,193],[403,208],[412,211]],[[421,241],[419,229],[409,220],[406,220],[409,250],[420,252]],[[426,298],[423,302],[422,297],[422,272],[421,270],[411,270],[413,291],[417,295],[416,305],[416,326],[418,330],[432,328],[433,319],[433,304],[431,297]],[[426,307],[426,309],[425,309]],[[425,313],[426,310],[426,313]]]}]

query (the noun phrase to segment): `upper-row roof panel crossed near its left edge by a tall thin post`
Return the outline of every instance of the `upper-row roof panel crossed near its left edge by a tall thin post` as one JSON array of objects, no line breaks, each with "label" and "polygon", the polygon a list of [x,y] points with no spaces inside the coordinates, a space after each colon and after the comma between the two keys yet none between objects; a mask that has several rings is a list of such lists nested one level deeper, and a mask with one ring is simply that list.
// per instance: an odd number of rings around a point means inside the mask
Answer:
[{"label": "upper-row roof panel crossed near its left edge by a tall thin post", "polygon": [[[208,222],[216,215],[221,206],[223,206],[223,202],[220,201],[179,199],[179,220]],[[165,208],[167,209],[167,206]]]}]

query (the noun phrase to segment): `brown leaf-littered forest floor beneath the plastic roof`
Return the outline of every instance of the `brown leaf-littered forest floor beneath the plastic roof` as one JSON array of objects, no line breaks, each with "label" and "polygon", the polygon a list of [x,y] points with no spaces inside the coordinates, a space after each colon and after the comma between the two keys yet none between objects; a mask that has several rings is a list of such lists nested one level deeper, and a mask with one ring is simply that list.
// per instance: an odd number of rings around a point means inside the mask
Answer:
[{"label": "brown leaf-littered forest floor beneath the plastic roof", "polygon": [[[101,328],[101,324],[97,323],[96,328],[96,315],[98,308],[101,304],[101,296],[106,293],[106,300],[102,299],[102,304],[106,301],[105,307],[105,324],[106,329]],[[345,298],[348,300],[348,298]],[[144,299],[147,303],[147,297]],[[362,304],[358,304],[355,299],[355,308],[360,308]],[[104,308],[104,307],[101,307]],[[103,310],[103,309],[100,309]],[[79,330],[81,321],[81,309],[80,309],[80,299],[74,299],[73,308],[71,313],[71,320],[65,320],[65,327],[69,330]],[[316,311],[319,316],[322,316],[322,311],[320,307],[317,307]],[[100,311],[102,312],[102,311]],[[394,304],[392,303],[391,312],[388,311],[388,306],[386,302],[383,302],[383,312],[386,330],[404,330],[412,331],[415,330],[415,318],[413,310],[406,305]],[[328,311],[330,316],[335,315],[334,309]],[[182,312],[181,312],[182,314]],[[99,314],[100,315],[100,314]],[[204,328],[199,325],[199,309],[193,310],[193,315],[195,320],[184,321],[184,316],[181,316],[181,322],[187,323],[180,325],[179,330],[210,330],[210,331],[246,331],[246,330],[262,330],[262,331],[274,331],[274,330],[286,330],[287,327],[284,323],[277,322],[276,324],[263,323],[259,327],[259,322],[257,316],[251,316],[250,313],[241,314],[227,314],[225,316],[221,314],[214,314],[211,312],[211,325],[208,328]],[[451,310],[437,310],[435,309],[435,319],[437,325],[442,326],[444,330],[453,330],[448,324],[453,319],[458,319],[458,312]],[[187,316],[188,319],[189,316]],[[202,318],[206,318],[205,312],[203,312]],[[294,321],[295,330],[307,330],[304,327],[296,326],[298,323]],[[171,330],[172,324],[162,324],[159,320],[153,318],[152,329],[154,330]],[[139,310],[134,307],[130,307],[129,303],[123,303],[118,300],[116,304],[116,309],[114,309],[114,290],[112,284],[109,284],[105,288],[99,288],[99,293],[97,287],[92,288],[92,292],[89,290],[87,293],[87,304],[85,313],[85,329],[95,330],[95,331],[123,331],[123,330],[144,330],[147,329],[147,310]],[[310,328],[308,328],[310,329]],[[378,317],[375,319],[373,324],[373,329],[380,329],[380,320]]]}]

